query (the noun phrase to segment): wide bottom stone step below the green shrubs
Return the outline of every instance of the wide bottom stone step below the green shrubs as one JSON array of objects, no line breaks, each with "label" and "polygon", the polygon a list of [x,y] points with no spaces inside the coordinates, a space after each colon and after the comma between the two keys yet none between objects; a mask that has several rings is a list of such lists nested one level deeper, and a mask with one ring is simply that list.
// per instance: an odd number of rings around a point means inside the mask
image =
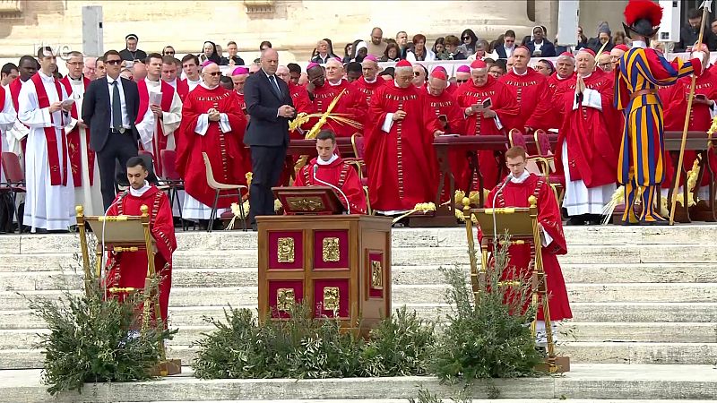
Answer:
[{"label": "wide bottom stone step below the green shrubs", "polygon": [[[713,399],[717,370],[711,365],[574,364],[563,376],[475,382],[472,398],[487,399],[488,391],[502,399]],[[0,371],[0,401],[109,402],[118,397],[134,401],[293,399],[409,399],[419,388],[453,397],[460,387],[434,377],[347,378],[324,380],[215,380],[181,375],[152,382],[88,384],[84,393],[50,397],[40,383],[40,370]]]}]

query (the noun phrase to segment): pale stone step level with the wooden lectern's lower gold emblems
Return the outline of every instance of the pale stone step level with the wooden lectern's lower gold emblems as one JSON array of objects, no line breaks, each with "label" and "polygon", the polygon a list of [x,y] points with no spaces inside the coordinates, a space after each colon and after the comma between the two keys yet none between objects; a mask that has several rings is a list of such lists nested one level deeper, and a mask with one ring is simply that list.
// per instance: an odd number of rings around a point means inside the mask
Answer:
[{"label": "pale stone step level with the wooden lectern's lower gold emblems", "polygon": [[[212,279],[213,281],[213,279]],[[567,284],[571,303],[600,302],[717,302],[717,283],[623,283]],[[393,304],[444,303],[447,285],[394,285]],[[80,289],[72,291],[81,294]],[[64,291],[0,291],[0,311],[29,308],[27,298],[56,300]],[[217,304],[258,304],[258,287],[174,287],[169,297],[171,306],[207,306]]]}]

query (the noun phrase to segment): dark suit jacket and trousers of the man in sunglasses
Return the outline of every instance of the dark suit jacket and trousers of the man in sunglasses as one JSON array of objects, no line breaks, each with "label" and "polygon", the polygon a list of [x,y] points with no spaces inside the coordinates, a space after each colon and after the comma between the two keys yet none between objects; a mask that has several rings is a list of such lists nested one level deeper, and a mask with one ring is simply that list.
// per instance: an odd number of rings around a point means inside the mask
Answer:
[{"label": "dark suit jacket and trousers of the man in sunglasses", "polygon": [[[116,160],[125,169],[127,159],[137,155],[139,133],[134,127],[140,108],[140,94],[134,81],[122,80],[130,128],[117,133],[110,127],[112,108],[107,77],[92,81],[82,100],[82,120],[90,126],[90,147],[97,153],[102,201],[108,209],[117,194]],[[124,116],[123,116],[124,117]],[[126,173],[125,173],[126,176]]]}]

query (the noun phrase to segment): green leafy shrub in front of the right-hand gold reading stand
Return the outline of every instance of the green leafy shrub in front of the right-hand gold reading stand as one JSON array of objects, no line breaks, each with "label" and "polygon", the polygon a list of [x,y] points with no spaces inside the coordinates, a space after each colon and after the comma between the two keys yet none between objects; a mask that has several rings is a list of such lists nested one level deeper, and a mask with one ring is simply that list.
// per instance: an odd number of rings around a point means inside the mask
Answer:
[{"label": "green leafy shrub in front of the right-hand gold reading stand", "polygon": [[530,279],[520,281],[512,297],[506,298],[505,287],[498,285],[507,266],[505,248],[497,250],[495,261],[477,294],[468,286],[463,270],[444,270],[451,286],[446,300],[453,313],[438,338],[432,364],[432,372],[444,382],[530,376],[541,361],[526,325],[535,311],[530,308],[521,314],[530,297]]}]

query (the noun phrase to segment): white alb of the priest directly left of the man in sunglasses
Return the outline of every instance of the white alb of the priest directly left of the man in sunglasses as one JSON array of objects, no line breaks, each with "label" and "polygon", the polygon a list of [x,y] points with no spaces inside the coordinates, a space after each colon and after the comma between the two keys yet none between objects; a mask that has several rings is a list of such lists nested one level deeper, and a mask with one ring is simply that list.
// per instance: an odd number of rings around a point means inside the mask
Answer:
[{"label": "white alb of the priest directly left of the man in sunglasses", "polygon": [[[77,111],[82,114],[82,100],[84,99],[84,81],[70,79],[73,93],[69,96],[74,99]],[[65,134],[73,131],[77,125],[77,119],[70,117],[70,125],[65,127]],[[80,156],[82,159],[82,185],[74,188],[74,203],[84,207],[84,214],[88,216],[101,216],[104,214],[105,206],[102,202],[102,190],[99,185],[99,165],[95,157],[94,165],[90,167],[90,160],[87,157],[87,130],[82,127],[80,131]],[[93,172],[93,183],[90,184],[90,169]]]}]

